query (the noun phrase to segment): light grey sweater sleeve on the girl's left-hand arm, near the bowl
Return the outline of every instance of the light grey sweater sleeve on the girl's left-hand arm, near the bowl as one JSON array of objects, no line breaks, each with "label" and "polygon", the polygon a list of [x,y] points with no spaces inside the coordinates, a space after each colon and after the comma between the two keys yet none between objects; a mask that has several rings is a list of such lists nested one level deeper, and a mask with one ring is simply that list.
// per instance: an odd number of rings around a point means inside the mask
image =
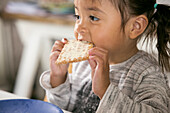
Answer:
[{"label": "light grey sweater sleeve on the girl's left-hand arm, near the bowl", "polygon": [[65,83],[52,88],[50,85],[50,72],[46,71],[41,75],[40,85],[45,89],[49,102],[59,106],[62,109],[68,109],[70,99],[70,83],[67,77]]}]

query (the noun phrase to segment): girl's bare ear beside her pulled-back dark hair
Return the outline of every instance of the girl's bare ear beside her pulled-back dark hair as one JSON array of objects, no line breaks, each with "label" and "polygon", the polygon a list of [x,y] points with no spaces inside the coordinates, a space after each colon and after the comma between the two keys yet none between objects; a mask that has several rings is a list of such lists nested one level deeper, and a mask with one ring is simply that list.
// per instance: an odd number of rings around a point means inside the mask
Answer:
[{"label": "girl's bare ear beside her pulled-back dark hair", "polygon": [[148,25],[148,19],[145,15],[137,16],[133,19],[130,27],[130,38],[135,39],[141,35]]}]

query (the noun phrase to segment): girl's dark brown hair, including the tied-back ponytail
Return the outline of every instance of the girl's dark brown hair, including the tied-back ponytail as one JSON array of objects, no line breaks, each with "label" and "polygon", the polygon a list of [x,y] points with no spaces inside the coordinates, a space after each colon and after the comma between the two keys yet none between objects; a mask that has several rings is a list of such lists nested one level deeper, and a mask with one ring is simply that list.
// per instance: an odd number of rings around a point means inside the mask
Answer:
[{"label": "girl's dark brown hair, including the tied-back ponytail", "polygon": [[146,15],[149,23],[140,36],[145,36],[145,40],[151,39],[151,41],[157,37],[159,64],[166,71],[170,71],[170,6],[158,4],[155,9],[156,0],[110,1],[120,11],[123,30],[131,16]]}]

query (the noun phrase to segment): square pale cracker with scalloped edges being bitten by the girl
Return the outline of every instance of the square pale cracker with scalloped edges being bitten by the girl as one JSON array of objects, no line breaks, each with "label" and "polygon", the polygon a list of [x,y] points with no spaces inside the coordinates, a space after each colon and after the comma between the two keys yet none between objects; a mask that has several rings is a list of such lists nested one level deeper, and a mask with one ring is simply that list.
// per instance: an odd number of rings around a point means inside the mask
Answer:
[{"label": "square pale cracker with scalloped edges being bitten by the girl", "polygon": [[89,58],[88,51],[93,44],[87,41],[70,40],[66,43],[56,61],[56,64],[79,62]]}]

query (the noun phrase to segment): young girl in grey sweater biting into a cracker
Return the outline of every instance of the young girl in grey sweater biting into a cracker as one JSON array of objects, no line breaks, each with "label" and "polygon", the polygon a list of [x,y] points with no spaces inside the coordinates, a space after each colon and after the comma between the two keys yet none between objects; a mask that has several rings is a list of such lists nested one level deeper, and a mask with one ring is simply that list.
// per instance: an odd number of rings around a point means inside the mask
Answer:
[{"label": "young girl in grey sweater biting into a cracker", "polygon": [[[155,0],[75,0],[75,37],[94,43],[89,60],[56,65],[67,40],[56,41],[40,78],[48,100],[73,113],[169,113],[170,7]],[[138,50],[157,37],[157,61]]]}]

